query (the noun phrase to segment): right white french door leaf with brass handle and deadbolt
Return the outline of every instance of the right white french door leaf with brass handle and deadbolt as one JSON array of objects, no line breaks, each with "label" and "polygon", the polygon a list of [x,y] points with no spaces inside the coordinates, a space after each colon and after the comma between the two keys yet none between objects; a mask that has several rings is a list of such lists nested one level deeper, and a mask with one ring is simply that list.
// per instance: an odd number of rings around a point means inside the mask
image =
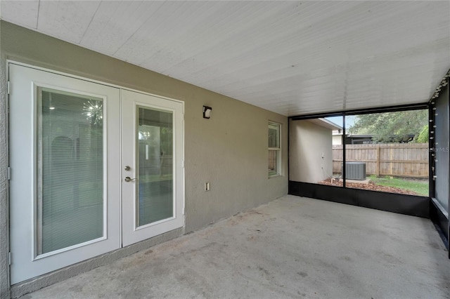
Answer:
[{"label": "right white french door leaf with brass handle and deadbolt", "polygon": [[184,226],[183,104],[122,90],[122,244]]}]

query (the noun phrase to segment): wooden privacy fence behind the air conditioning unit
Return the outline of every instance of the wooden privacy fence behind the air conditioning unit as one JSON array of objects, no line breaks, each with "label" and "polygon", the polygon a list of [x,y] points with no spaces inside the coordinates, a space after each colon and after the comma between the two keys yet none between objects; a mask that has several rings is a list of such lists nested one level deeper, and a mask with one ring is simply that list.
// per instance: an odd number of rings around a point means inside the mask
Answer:
[{"label": "wooden privacy fence behind the air conditioning unit", "polygon": [[[366,162],[367,175],[428,178],[428,143],[345,145],[347,162]],[[342,145],[333,145],[333,173],[342,172]]]}]

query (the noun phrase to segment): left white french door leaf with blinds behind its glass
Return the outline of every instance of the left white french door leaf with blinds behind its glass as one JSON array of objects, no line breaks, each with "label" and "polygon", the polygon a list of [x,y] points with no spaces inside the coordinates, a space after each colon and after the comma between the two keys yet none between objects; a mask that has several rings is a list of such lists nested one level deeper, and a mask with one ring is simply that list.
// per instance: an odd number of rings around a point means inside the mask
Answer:
[{"label": "left white french door leaf with blinds behind its glass", "polygon": [[120,248],[120,89],[9,65],[11,284]]}]

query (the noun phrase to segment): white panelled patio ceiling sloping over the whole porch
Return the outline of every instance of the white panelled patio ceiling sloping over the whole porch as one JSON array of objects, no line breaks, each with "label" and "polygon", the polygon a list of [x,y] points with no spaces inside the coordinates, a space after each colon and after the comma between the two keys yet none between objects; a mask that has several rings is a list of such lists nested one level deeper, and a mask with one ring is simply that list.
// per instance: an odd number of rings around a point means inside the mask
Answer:
[{"label": "white panelled patio ceiling sloping over the whole porch", "polygon": [[3,20],[293,116],[426,102],[450,1],[1,1]]}]

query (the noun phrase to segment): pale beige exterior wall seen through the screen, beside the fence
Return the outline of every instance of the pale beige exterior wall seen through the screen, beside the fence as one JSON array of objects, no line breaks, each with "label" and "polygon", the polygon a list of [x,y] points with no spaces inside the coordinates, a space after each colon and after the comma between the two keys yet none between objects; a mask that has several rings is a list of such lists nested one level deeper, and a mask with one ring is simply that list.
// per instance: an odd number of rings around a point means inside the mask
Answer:
[{"label": "pale beige exterior wall seen through the screen, beside the fence", "polygon": [[290,180],[316,183],[333,174],[333,138],[329,128],[308,120],[290,121],[289,138]]}]

